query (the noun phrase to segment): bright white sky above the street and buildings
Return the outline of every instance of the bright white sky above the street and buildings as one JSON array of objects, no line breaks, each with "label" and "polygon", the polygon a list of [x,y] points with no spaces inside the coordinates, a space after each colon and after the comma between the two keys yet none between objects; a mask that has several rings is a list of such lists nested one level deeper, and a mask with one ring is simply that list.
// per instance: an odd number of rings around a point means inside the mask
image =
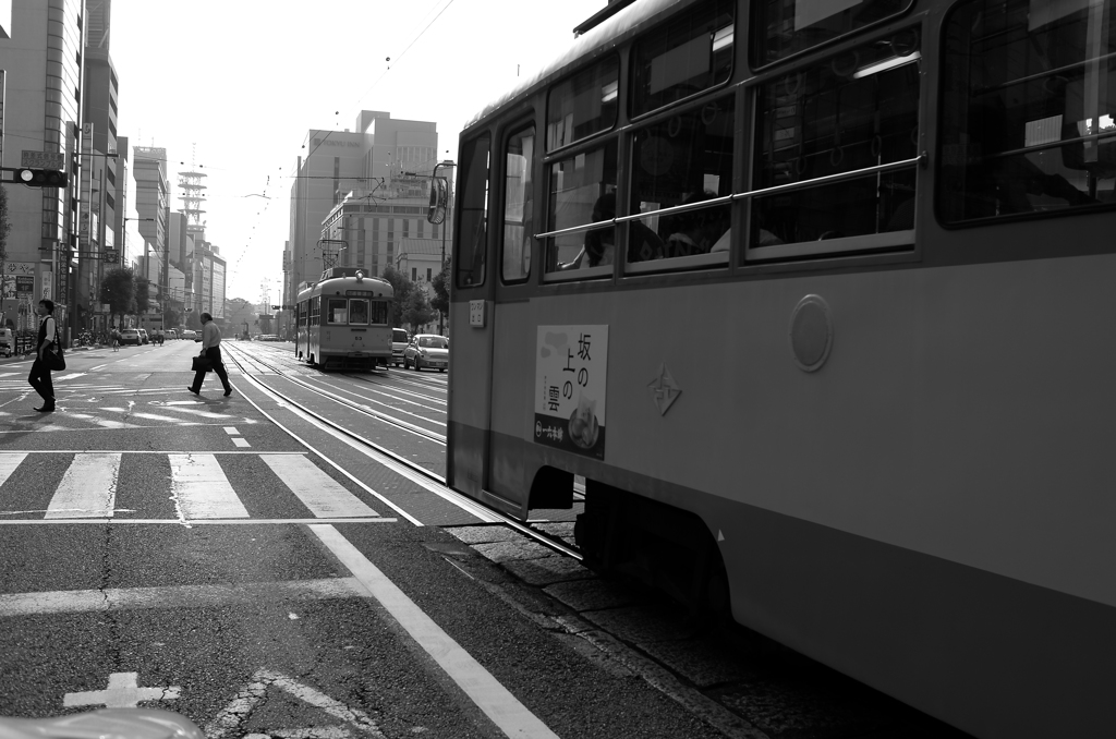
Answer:
[{"label": "bright white sky above the street and buildings", "polygon": [[177,172],[193,161],[209,174],[203,218],[229,262],[227,297],[256,303],[269,280],[279,303],[290,175],[308,129],[352,131],[359,111],[386,111],[435,122],[440,159],[456,161],[461,127],[516,85],[517,65],[531,76],[605,4],[114,0],[117,135],[167,150],[172,211]]}]

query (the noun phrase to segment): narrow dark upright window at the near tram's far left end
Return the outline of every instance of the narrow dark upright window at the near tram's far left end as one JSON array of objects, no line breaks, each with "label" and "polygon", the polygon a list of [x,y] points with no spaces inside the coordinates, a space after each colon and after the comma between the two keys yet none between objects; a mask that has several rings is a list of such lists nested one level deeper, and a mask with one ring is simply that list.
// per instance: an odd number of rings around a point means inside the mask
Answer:
[{"label": "narrow dark upright window at the near tram's far left end", "polygon": [[455,239],[458,258],[453,260],[458,287],[475,287],[484,282],[489,146],[489,135],[484,134],[466,142],[461,148],[461,196],[458,199],[461,214]]}]

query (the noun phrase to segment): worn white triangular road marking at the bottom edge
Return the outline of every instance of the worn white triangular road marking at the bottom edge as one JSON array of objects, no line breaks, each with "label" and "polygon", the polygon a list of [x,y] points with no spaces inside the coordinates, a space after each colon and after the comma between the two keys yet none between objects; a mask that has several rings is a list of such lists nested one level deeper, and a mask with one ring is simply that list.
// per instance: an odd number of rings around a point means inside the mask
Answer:
[{"label": "worn white triangular road marking at the bottom edge", "polygon": [[[272,685],[285,690],[287,693],[305,703],[309,703],[315,708],[321,709],[335,719],[340,719],[358,731],[363,731],[371,737],[382,739],[384,736],[381,733],[379,727],[376,722],[364,711],[350,708],[345,703],[334,700],[329,695],[310,688],[309,685],[295,682],[290,678],[279,674],[278,672],[261,669],[252,675],[252,682],[244,685],[243,690],[238,692],[233,697],[232,701],[230,701],[220,713],[213,717],[213,720],[205,727],[205,739],[222,739],[222,737],[230,732],[234,736],[244,736],[244,733],[240,731],[241,726],[243,726],[243,723],[252,714],[252,710],[256,706],[263,700],[268,688]],[[333,728],[336,729],[337,727]],[[312,731],[308,731],[306,733],[304,733],[304,731],[306,730],[280,729],[277,731],[269,731],[267,735],[254,736],[276,736],[288,739],[339,739],[341,736],[348,736],[347,732],[345,735],[340,735],[335,731],[320,732],[319,729],[314,729]]]}]

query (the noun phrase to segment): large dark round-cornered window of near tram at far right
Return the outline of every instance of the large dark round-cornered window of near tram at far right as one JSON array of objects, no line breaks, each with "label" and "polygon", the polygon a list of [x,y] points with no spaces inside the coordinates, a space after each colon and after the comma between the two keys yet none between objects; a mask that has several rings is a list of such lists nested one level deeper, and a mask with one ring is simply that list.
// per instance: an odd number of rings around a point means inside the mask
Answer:
[{"label": "large dark round-cornered window of near tram at far right", "polygon": [[944,46],[942,220],[1116,204],[1116,2],[966,2]]}]

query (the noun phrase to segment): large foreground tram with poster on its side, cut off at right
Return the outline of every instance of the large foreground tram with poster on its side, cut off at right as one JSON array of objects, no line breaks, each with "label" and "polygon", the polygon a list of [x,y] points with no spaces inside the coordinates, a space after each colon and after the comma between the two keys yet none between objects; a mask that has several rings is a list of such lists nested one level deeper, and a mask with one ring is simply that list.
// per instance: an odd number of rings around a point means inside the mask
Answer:
[{"label": "large foreground tram with poster on its side, cut off at right", "polygon": [[1116,2],[638,0],[462,131],[448,480],[978,737],[1116,694]]}]

